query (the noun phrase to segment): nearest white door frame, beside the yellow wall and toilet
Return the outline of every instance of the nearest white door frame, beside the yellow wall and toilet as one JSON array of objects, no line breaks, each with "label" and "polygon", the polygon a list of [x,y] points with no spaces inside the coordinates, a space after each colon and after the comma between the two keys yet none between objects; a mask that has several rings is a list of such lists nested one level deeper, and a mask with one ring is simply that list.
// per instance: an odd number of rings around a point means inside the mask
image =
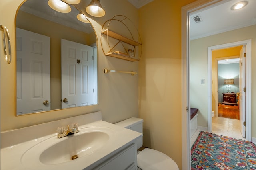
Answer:
[{"label": "nearest white door frame, beside the yellow wall and toilet", "polygon": [[[216,4],[222,0],[197,0],[181,9],[181,57],[182,57],[182,170],[191,169],[190,160],[190,115],[187,108],[190,107],[189,101],[189,14],[198,9]],[[250,80],[251,81],[251,80]],[[251,84],[251,82],[249,82]],[[211,83],[210,83],[211,84]],[[212,111],[208,110],[208,113]],[[209,116],[208,116],[209,117]],[[246,118],[247,120],[248,118]],[[249,123],[249,121],[248,121]],[[249,125],[251,126],[251,125]]]}]

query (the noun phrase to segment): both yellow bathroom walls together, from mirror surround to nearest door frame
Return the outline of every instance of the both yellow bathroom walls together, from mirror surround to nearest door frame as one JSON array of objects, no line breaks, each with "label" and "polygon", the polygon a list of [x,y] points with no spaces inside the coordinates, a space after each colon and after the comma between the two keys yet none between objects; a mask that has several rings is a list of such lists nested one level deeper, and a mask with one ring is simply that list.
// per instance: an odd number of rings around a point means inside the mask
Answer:
[{"label": "both yellow bathroom walls together, from mirror surround to nearest door frame", "polygon": [[[100,38],[101,25],[106,20],[121,14],[138,26],[143,51],[141,60],[131,63],[105,57],[102,49],[98,49],[99,104],[95,106],[15,117],[15,64],[12,62],[7,65],[1,61],[1,130],[17,129],[98,110],[102,111],[103,120],[111,123],[139,116],[144,119],[144,145],[164,152],[182,169],[181,8],[194,1],[154,0],[139,10],[126,0],[100,1],[106,8],[106,16],[89,18],[97,37]],[[21,2],[1,0],[0,21],[10,31],[12,47],[15,44],[14,17]],[[14,50],[12,54],[15,56]],[[103,68],[133,70],[138,71],[138,75],[105,75],[102,73]]]}]

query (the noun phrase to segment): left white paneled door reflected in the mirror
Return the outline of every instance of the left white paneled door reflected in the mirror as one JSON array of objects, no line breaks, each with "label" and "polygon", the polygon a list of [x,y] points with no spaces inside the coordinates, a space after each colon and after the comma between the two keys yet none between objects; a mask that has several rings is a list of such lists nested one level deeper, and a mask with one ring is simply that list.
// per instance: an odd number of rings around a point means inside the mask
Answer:
[{"label": "left white paneled door reflected in the mirror", "polygon": [[[17,115],[50,110],[50,37],[16,29]],[[44,101],[49,101],[44,105]]]}]

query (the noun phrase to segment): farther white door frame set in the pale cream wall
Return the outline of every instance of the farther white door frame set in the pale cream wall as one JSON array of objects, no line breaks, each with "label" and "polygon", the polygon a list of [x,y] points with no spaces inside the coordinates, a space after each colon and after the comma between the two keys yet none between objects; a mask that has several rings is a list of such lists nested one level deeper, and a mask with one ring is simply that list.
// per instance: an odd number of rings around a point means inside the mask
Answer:
[{"label": "farther white door frame set in the pale cream wall", "polygon": [[208,47],[208,131],[212,131],[212,50],[246,45],[246,140],[252,141],[252,40],[244,40]]}]

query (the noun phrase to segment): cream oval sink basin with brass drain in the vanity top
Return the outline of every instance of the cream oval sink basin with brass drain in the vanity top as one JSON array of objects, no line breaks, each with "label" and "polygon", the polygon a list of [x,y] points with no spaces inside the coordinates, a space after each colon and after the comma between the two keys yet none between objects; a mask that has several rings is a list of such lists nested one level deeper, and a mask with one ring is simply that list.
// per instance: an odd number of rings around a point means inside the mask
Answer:
[{"label": "cream oval sink basin with brass drain in the vanity top", "polygon": [[[84,130],[86,129],[86,130]],[[50,137],[28,149],[22,156],[22,164],[38,162],[46,165],[74,161],[102,148],[109,140],[109,130],[104,127],[79,129],[80,132],[57,138]]]}]

